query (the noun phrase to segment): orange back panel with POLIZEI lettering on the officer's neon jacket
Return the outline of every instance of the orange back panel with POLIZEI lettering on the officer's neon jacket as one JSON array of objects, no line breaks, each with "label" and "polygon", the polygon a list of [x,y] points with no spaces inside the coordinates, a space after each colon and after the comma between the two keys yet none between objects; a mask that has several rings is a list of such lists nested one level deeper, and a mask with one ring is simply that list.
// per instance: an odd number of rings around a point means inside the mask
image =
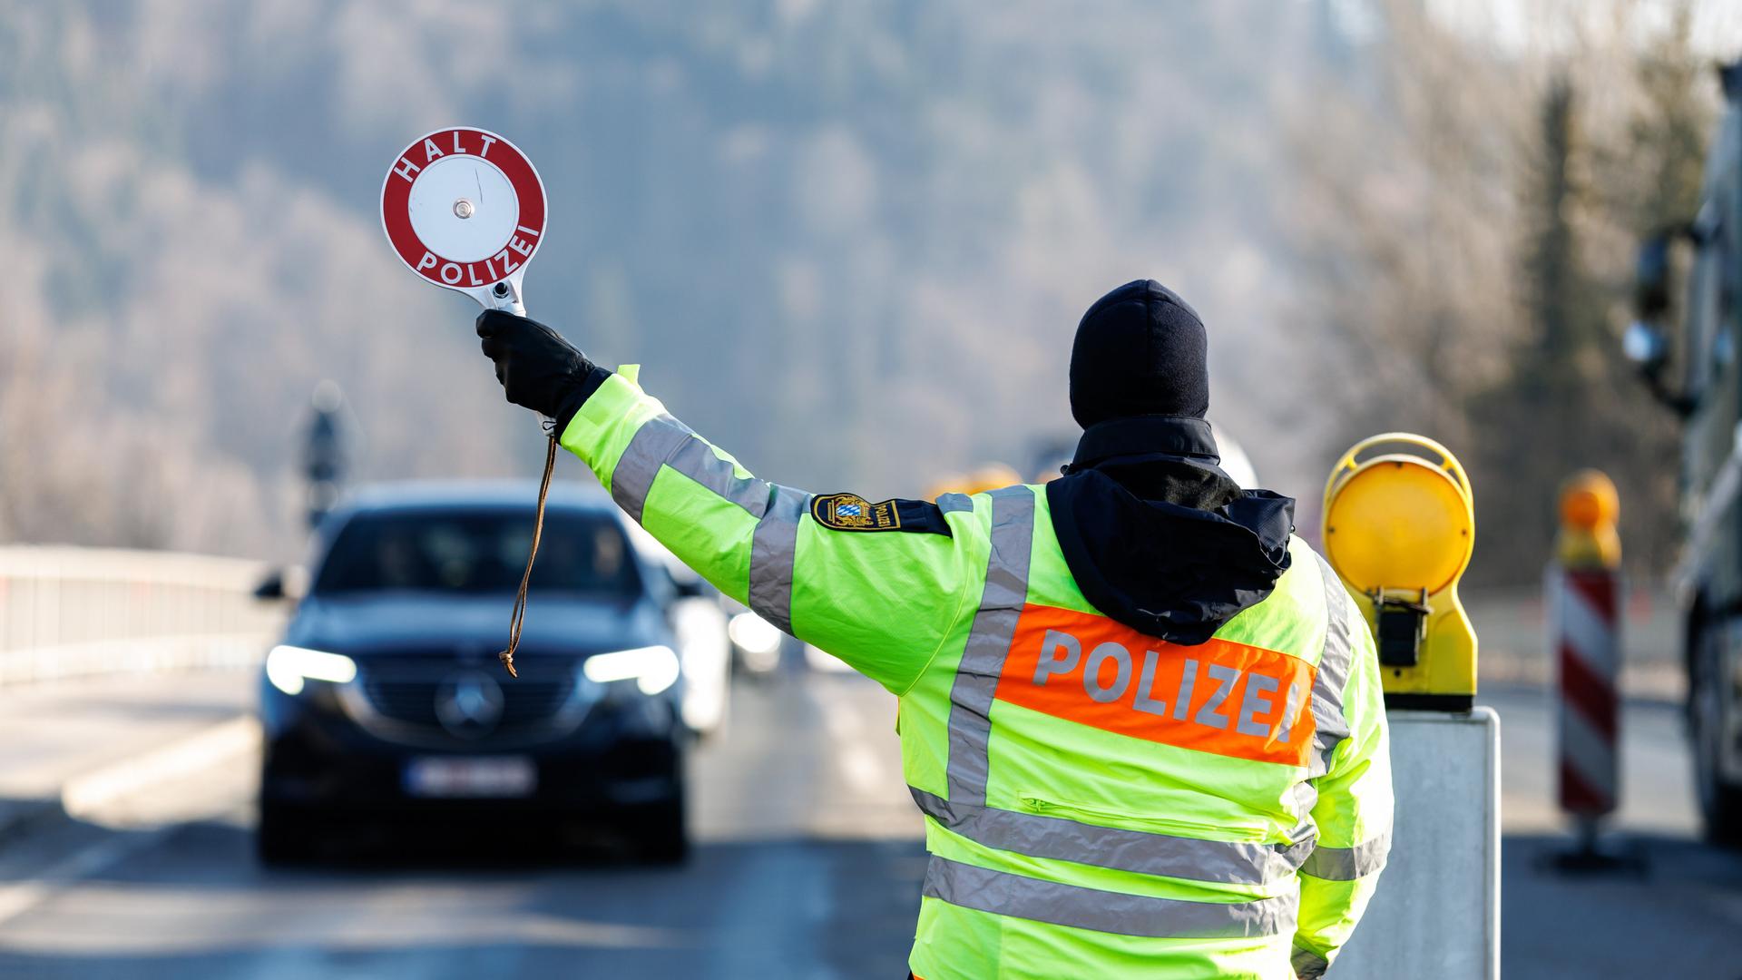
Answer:
[{"label": "orange back panel with POLIZEI lettering on the officer's neon jacket", "polygon": [[1144,636],[1103,616],[1026,605],[998,678],[998,699],[1132,738],[1305,766],[1313,666],[1211,640]]}]

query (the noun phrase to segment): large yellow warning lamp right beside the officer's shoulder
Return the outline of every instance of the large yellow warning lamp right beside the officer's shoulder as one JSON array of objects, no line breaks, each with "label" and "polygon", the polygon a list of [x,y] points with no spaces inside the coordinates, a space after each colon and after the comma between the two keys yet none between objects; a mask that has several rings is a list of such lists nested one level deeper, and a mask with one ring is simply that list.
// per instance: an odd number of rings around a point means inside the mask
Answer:
[{"label": "large yellow warning lamp right beside the officer's shoulder", "polygon": [[1475,630],[1458,603],[1474,546],[1470,478],[1434,439],[1383,432],[1331,469],[1324,553],[1378,640],[1385,706],[1475,703]]}]

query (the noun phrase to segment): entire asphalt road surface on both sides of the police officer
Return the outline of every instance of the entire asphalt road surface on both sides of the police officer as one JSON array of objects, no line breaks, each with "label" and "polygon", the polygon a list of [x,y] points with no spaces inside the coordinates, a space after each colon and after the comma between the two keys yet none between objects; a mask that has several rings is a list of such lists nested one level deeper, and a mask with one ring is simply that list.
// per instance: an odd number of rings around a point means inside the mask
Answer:
[{"label": "entire asphalt road surface on both sides of the police officer", "polygon": [[[176,717],[178,691],[202,734],[108,766],[70,788],[77,820],[0,842],[0,977],[904,975],[920,821],[894,704],[869,682],[740,684],[730,731],[693,759],[700,846],[679,868],[608,851],[550,865],[509,827],[263,870],[249,840],[258,736],[219,710],[246,710],[247,682],[157,680],[122,708]],[[1641,865],[1563,875],[1549,861],[1566,837],[1550,806],[1547,703],[1528,689],[1484,701],[1502,713],[1505,755],[1505,975],[1742,977],[1742,858],[1693,839],[1674,710],[1625,715],[1615,840]],[[96,725],[66,722],[80,724]],[[92,738],[120,731],[105,724]]]}]

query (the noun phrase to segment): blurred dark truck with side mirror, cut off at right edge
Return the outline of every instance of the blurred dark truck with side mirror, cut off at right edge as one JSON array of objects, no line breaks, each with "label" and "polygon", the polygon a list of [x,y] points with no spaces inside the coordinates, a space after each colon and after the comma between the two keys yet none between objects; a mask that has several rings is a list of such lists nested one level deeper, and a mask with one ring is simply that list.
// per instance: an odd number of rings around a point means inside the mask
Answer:
[{"label": "blurred dark truck with side mirror, cut off at right edge", "polygon": [[[1742,63],[1723,68],[1721,78],[1728,105],[1698,213],[1641,242],[1636,319],[1624,345],[1683,422],[1678,595],[1688,734],[1707,835],[1742,844]],[[1672,328],[1679,255],[1691,263]]]}]

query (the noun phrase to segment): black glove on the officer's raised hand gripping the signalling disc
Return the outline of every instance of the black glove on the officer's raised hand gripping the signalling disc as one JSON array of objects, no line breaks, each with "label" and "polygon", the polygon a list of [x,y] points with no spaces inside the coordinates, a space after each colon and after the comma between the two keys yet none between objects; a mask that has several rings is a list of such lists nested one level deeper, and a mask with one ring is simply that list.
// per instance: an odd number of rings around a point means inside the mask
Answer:
[{"label": "black glove on the officer's raised hand gripping the signalling disc", "polygon": [[611,377],[561,333],[507,310],[477,314],[477,335],[484,356],[496,363],[496,380],[509,401],[556,419],[557,432]]}]

